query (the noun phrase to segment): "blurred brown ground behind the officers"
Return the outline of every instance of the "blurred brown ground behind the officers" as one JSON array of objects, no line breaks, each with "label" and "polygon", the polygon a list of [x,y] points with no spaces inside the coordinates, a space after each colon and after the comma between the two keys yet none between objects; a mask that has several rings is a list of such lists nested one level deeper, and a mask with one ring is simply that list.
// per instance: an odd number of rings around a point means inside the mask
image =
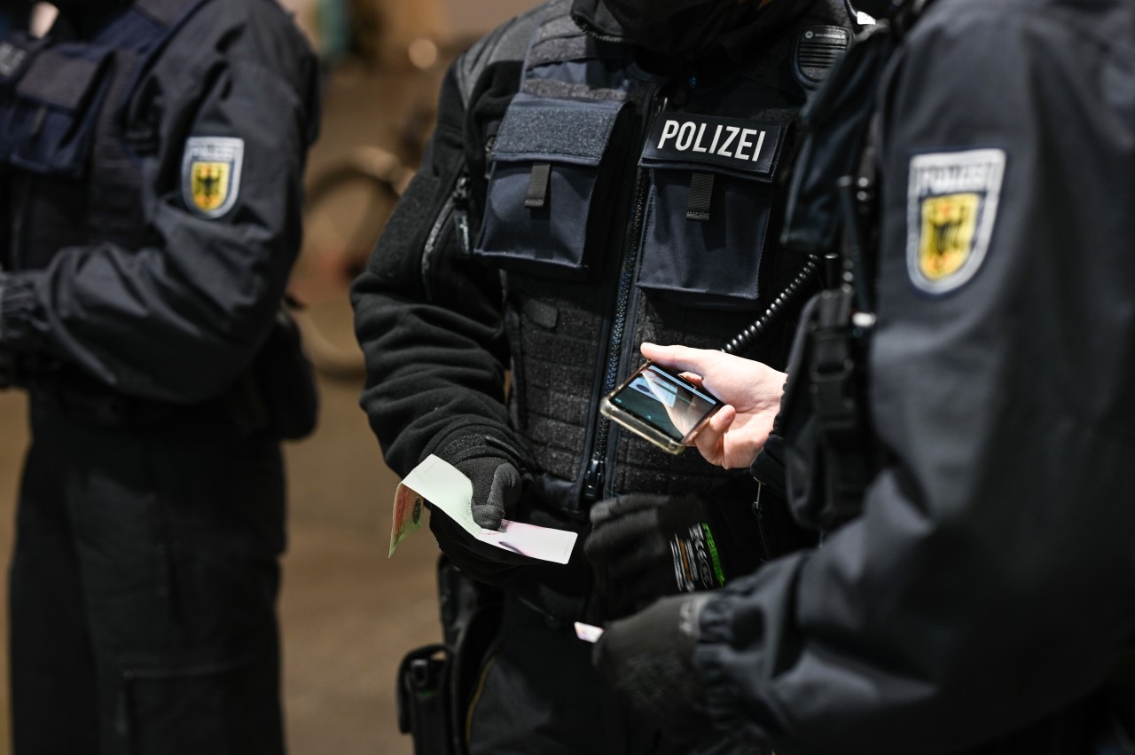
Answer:
[{"label": "blurred brown ground behind the officers", "polygon": [[[400,150],[409,110],[429,109],[438,73],[376,76],[340,72],[331,79],[323,134],[311,174],[360,143]],[[412,108],[411,108],[412,106]],[[350,344],[350,311],[323,305]],[[434,587],[436,546],[428,530],[386,557],[397,478],[387,470],[358,408],[361,378],[322,380],[318,431],[287,447],[291,547],[284,560],[280,616],[285,705],[293,755],[400,755],[394,673],[402,654],[440,636]],[[0,393],[0,562],[11,553],[17,475],[27,442],[24,397]],[[0,605],[7,589],[0,580]],[[3,612],[0,612],[2,615]],[[7,647],[0,624],[0,648]],[[0,652],[0,680],[7,657]],[[0,682],[0,755],[7,755],[7,689]]]}]

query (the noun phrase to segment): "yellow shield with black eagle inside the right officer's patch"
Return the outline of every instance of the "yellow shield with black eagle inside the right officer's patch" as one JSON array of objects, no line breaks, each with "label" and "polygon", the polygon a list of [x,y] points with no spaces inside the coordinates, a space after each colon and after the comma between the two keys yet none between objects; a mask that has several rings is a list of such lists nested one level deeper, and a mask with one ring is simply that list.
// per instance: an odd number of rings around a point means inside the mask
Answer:
[{"label": "yellow shield with black eagle inside the right officer's patch", "polygon": [[980,207],[981,196],[974,193],[923,200],[918,270],[927,280],[956,274],[969,259]]}]

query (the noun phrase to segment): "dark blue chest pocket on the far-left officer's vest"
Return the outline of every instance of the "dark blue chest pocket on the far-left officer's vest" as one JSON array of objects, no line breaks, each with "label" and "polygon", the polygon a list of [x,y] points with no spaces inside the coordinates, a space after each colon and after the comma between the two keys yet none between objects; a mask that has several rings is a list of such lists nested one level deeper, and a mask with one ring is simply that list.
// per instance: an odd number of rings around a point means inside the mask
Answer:
[{"label": "dark blue chest pocket on the far-left officer's vest", "polygon": [[0,43],[0,163],[82,178],[111,79],[109,49],[42,47],[26,37]]}]

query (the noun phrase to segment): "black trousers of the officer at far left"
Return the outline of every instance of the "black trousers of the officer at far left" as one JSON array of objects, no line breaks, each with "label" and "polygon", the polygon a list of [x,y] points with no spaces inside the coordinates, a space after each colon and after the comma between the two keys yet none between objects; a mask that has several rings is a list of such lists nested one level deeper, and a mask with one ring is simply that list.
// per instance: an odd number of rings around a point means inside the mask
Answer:
[{"label": "black trousers of the officer at far left", "polygon": [[33,397],[10,572],[16,755],[279,755],[279,444]]}]

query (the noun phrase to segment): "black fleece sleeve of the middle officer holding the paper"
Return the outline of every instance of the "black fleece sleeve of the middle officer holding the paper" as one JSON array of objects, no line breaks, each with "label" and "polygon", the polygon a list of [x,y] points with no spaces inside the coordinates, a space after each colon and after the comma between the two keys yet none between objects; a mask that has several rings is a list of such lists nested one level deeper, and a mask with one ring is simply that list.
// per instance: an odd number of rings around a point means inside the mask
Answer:
[{"label": "black fleece sleeve of the middle officer holding the paper", "polygon": [[[461,66],[459,59],[445,78],[422,165],[351,295],[367,360],[361,403],[387,463],[401,475],[460,438],[521,445],[504,401],[499,277],[469,255],[476,223],[462,241],[455,221],[462,212],[476,219],[476,205],[466,202],[484,192],[484,167],[466,160],[466,144],[481,150],[482,143],[462,101]],[[486,91],[515,92],[518,75],[519,65],[490,66],[471,101]],[[494,81],[502,77],[507,81]],[[463,193],[455,198],[459,181]]]}]

